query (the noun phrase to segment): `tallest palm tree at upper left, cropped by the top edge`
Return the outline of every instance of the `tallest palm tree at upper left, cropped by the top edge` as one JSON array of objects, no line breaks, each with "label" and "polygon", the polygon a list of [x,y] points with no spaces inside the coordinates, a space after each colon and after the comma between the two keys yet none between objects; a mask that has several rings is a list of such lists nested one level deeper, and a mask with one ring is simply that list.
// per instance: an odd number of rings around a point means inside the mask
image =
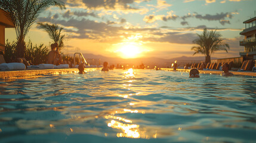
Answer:
[{"label": "tallest palm tree at upper left, cropped by the top edge", "polygon": [[0,8],[13,21],[17,36],[16,56],[24,57],[26,43],[24,38],[35,23],[38,15],[51,6],[65,8],[59,0],[0,0]]}]

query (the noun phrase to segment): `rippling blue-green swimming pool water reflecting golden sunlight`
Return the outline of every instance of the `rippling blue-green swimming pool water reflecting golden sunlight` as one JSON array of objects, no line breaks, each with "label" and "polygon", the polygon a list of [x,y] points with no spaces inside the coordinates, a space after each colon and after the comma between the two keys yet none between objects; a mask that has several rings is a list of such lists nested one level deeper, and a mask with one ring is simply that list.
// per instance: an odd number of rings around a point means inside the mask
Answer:
[{"label": "rippling blue-green swimming pool water reflecting golden sunlight", "polygon": [[162,70],[0,81],[0,142],[254,142],[256,79]]}]

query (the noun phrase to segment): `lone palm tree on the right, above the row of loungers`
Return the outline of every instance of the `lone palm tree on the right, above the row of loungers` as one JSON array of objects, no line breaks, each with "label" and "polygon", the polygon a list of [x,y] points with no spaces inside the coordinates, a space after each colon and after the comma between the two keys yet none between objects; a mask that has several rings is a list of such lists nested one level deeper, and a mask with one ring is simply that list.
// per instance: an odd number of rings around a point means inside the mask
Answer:
[{"label": "lone palm tree on the right, above the row of loungers", "polygon": [[215,51],[224,50],[227,52],[229,49],[229,44],[224,42],[221,38],[221,34],[216,32],[216,30],[208,31],[203,29],[203,33],[198,35],[198,39],[195,39],[193,43],[199,46],[193,46],[191,49],[195,51],[195,54],[201,53],[205,55],[205,63],[211,63],[211,54]]}]

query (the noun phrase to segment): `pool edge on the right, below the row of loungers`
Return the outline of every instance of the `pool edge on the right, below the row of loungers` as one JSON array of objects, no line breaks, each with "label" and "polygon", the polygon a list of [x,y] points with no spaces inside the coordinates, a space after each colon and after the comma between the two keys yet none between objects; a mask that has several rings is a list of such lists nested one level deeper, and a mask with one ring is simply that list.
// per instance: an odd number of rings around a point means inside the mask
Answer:
[{"label": "pool edge on the right, below the row of loungers", "polygon": [[[161,68],[161,70],[173,71],[173,69],[171,68]],[[176,71],[189,72],[190,69],[176,69]],[[222,72],[223,71],[220,71],[220,70],[199,70],[199,73],[203,73],[203,74],[221,74]],[[256,72],[251,72],[251,71],[230,71],[230,72],[240,76],[256,76]]]}]

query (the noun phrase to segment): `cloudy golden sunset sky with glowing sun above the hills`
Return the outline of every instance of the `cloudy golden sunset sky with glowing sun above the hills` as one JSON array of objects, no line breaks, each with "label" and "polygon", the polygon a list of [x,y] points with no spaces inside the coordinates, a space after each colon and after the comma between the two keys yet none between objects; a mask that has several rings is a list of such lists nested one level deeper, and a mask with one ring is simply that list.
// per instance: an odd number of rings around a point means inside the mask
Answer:
[{"label": "cloudy golden sunset sky with glowing sun above the hills", "polygon": [[[50,8],[38,21],[64,27],[63,53],[91,53],[106,57],[191,57],[193,39],[203,28],[217,29],[230,44],[229,53],[212,57],[239,57],[239,32],[243,21],[254,16],[255,1],[89,1],[66,0],[66,10]],[[254,9],[253,9],[254,8]],[[33,24],[26,41],[52,42]],[[14,29],[5,30],[5,39],[16,39]],[[196,56],[203,56],[198,54]]]}]

